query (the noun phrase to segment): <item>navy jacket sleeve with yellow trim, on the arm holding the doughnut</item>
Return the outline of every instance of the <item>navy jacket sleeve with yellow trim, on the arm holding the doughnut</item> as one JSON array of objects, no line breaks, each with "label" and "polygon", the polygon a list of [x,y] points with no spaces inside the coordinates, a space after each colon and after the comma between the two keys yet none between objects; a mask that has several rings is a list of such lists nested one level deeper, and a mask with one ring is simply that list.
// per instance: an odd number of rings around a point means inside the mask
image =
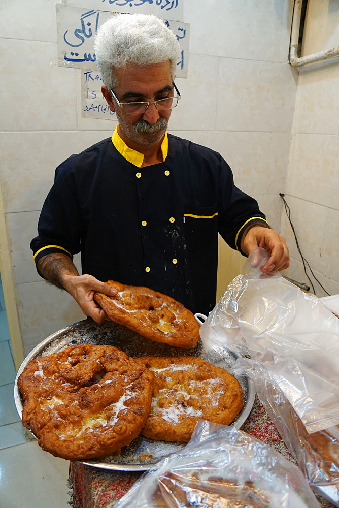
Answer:
[{"label": "navy jacket sleeve with yellow trim, on the arm holding the doughnut", "polygon": [[61,252],[71,259],[80,252],[84,226],[77,193],[72,188],[72,178],[66,182],[59,169],[40,214],[38,236],[30,243],[35,263],[52,252]]}]

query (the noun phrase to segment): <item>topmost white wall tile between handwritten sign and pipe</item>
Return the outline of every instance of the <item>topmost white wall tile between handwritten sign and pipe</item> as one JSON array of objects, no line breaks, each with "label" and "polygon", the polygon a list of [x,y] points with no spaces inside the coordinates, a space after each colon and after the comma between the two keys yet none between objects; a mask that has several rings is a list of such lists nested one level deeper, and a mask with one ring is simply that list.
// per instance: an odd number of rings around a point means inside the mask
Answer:
[{"label": "topmost white wall tile between handwritten sign and pipe", "polygon": [[190,52],[279,61],[285,2],[185,0]]}]

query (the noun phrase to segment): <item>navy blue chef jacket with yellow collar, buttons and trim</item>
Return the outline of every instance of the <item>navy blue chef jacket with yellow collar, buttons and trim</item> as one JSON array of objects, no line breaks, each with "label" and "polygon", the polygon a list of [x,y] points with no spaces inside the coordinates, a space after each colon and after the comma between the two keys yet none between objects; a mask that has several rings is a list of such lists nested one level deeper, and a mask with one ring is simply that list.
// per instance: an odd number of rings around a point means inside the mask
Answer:
[{"label": "navy blue chef jacket with yellow collar, buttons and trim", "polygon": [[219,153],[171,134],[163,145],[164,162],[144,168],[117,131],[69,157],[55,171],[31,249],[35,262],[81,251],[82,273],[143,285],[208,314],[218,232],[241,250],[245,229],[267,224],[265,215]]}]

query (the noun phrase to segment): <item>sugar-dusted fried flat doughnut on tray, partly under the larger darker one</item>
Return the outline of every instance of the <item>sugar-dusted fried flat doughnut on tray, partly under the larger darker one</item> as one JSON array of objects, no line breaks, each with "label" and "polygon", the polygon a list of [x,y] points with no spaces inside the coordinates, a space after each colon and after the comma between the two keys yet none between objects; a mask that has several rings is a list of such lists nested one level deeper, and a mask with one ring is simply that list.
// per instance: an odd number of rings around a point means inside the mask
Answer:
[{"label": "sugar-dusted fried flat doughnut on tray, partly under the larger darker one", "polygon": [[163,441],[189,441],[198,420],[230,424],[243,407],[232,374],[200,358],[144,356],[136,362],[154,374],[152,409],[141,434]]}]

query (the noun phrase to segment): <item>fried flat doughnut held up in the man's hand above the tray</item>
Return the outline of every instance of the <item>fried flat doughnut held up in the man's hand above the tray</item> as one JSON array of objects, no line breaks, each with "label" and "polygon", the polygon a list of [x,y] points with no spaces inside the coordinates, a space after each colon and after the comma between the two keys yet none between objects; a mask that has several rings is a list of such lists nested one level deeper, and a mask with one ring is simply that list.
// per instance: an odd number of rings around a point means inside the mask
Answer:
[{"label": "fried flat doughnut held up in the man's hand above the tray", "polygon": [[173,298],[142,286],[107,284],[118,290],[116,296],[94,293],[94,299],[108,317],[155,342],[189,349],[196,346],[200,325],[192,312]]}]

